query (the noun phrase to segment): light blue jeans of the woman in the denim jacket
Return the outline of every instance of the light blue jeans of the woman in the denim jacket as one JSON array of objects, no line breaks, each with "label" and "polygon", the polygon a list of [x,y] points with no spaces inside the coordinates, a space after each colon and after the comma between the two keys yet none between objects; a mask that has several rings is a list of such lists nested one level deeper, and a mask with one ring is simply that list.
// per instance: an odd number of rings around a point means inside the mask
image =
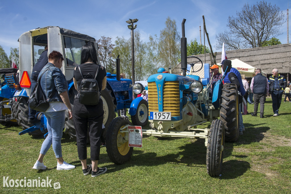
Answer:
[{"label": "light blue jeans of the woman in the denim jacket", "polygon": [[65,124],[65,110],[56,112],[44,113],[47,118],[47,131],[49,132],[47,138],[42,143],[40,154],[46,154],[49,147],[53,145],[53,150],[56,158],[61,158],[62,147],[61,139],[63,136],[63,127]]}]

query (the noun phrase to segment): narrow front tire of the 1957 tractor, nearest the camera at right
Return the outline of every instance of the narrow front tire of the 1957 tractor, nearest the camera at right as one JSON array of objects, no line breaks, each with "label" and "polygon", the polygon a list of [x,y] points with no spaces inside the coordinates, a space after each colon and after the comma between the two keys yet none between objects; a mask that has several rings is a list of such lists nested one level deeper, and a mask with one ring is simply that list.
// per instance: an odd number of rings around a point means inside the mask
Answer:
[{"label": "narrow front tire of the 1957 tractor, nearest the camera at right", "polygon": [[210,176],[219,176],[222,169],[224,127],[221,120],[213,120],[207,142],[206,166]]}]

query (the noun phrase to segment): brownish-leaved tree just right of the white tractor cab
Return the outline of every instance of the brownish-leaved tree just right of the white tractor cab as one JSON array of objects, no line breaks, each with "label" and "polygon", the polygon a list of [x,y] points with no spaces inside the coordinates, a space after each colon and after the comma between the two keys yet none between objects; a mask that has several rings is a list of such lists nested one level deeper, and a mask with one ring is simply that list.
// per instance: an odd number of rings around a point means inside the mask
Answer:
[{"label": "brownish-leaved tree just right of the white tractor cab", "polygon": [[112,58],[112,50],[114,45],[111,43],[110,37],[102,36],[98,43],[98,54],[101,65],[103,65],[107,72],[113,74],[115,70],[114,61]]}]

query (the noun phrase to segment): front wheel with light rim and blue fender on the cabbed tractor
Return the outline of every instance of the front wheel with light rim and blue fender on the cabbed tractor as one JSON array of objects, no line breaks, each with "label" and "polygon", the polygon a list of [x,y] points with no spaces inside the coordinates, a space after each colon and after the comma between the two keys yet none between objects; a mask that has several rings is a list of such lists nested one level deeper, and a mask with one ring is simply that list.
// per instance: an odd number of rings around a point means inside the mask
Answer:
[{"label": "front wheel with light rim and blue fender on the cabbed tractor", "polygon": [[148,102],[142,99],[136,108],[136,114],[131,116],[133,125],[144,127],[148,123]]}]

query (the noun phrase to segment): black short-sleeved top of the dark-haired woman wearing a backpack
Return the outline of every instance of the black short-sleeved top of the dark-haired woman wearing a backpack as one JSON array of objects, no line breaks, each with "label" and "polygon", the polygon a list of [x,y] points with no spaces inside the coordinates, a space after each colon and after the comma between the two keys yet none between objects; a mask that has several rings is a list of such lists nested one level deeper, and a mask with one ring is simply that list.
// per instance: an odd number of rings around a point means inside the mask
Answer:
[{"label": "black short-sleeved top of the dark-haired woman wearing a backpack", "polygon": [[[98,65],[96,65],[94,63],[83,63],[80,65],[80,69],[81,69],[81,72],[82,72],[84,78],[94,78],[96,75],[97,68],[98,68]],[[105,76],[106,76],[105,67],[100,66],[99,72],[96,76],[96,80],[98,82],[98,87],[99,87],[100,91],[102,88],[102,81],[103,81]],[[74,70],[73,77],[77,80],[77,85],[79,88],[83,78],[80,74],[78,67],[76,67],[76,70]]]}]

